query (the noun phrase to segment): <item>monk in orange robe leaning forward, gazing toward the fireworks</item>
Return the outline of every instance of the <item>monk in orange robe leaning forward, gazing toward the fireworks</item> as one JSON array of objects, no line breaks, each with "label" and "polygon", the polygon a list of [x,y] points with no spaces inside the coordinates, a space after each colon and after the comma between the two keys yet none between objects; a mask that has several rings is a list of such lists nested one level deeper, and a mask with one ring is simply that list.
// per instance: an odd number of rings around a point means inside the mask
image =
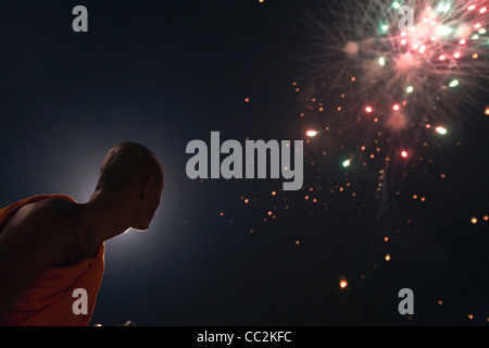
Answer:
[{"label": "monk in orange robe leaning forward, gazing toward the fireworks", "polygon": [[106,153],[90,199],[23,199],[0,210],[0,324],[88,325],[104,272],[104,241],[145,231],[160,206],[163,167],[145,146]]}]

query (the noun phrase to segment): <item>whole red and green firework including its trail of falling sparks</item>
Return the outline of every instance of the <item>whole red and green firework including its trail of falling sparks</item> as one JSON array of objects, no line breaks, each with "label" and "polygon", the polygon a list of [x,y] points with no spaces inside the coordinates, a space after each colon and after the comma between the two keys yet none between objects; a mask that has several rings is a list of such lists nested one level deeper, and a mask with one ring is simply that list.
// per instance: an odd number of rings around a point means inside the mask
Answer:
[{"label": "whole red and green firework including its trail of falling sparks", "polygon": [[[299,117],[310,164],[304,202],[310,215],[317,207],[346,212],[335,207],[340,197],[352,198],[348,210],[356,216],[365,207],[376,207],[371,232],[376,240],[376,229],[399,232],[393,226],[400,222],[386,216],[398,215],[399,198],[408,194],[400,184],[408,167],[422,165],[419,172],[427,173],[432,144],[452,135],[463,121],[488,114],[489,1],[315,4],[303,11],[309,50],[298,64],[300,78],[292,83],[305,103]],[[446,178],[444,173],[434,175]],[[410,197],[426,201],[424,195]],[[378,239],[384,245],[391,240],[385,235]],[[364,270],[378,266],[374,248],[372,241]],[[380,248],[380,258],[396,260]]]}]

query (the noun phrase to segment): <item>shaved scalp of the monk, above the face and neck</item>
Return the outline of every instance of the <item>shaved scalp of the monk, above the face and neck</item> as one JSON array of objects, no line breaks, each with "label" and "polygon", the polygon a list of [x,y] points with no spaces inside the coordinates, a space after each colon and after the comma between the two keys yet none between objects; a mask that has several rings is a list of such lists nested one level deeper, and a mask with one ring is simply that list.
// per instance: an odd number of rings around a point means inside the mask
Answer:
[{"label": "shaved scalp of the monk, above the face and neck", "polygon": [[105,154],[96,190],[121,190],[149,179],[163,186],[163,167],[156,156],[140,144],[121,142]]}]

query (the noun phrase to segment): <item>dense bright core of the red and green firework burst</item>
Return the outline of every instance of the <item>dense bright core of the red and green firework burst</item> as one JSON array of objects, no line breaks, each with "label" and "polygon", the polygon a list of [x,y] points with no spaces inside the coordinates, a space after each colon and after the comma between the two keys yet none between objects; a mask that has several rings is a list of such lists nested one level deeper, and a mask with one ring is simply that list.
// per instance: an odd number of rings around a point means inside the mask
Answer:
[{"label": "dense bright core of the red and green firework burst", "polygon": [[426,124],[456,124],[462,107],[484,110],[477,97],[489,76],[488,7],[485,0],[369,0],[311,11],[304,89],[329,111],[321,126],[358,125],[368,135],[376,124],[412,140]]}]

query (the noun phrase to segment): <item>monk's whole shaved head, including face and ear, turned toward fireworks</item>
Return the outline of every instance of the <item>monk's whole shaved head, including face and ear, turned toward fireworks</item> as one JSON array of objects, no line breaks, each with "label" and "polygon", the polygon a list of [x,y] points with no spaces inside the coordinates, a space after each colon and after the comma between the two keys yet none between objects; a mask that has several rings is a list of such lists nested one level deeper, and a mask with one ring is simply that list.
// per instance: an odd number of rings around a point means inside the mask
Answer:
[{"label": "monk's whole shaved head, including face and ear, turned toward fireworks", "polygon": [[160,206],[163,181],[163,167],[154,153],[127,141],[105,154],[96,192],[122,200],[131,227],[147,229]]}]

